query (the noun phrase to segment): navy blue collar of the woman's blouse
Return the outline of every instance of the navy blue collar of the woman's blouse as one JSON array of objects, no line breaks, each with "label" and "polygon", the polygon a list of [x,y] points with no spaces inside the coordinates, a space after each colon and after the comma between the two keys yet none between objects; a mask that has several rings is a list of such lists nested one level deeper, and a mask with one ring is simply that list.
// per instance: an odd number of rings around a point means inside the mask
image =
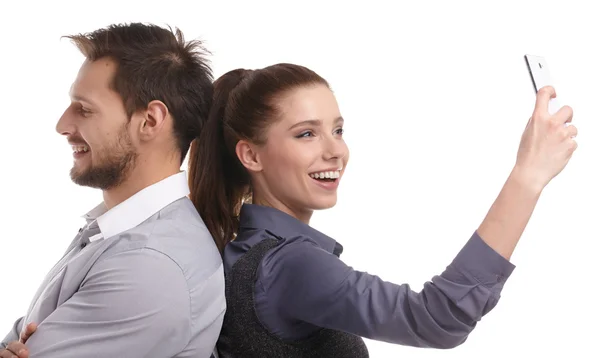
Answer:
[{"label": "navy blue collar of the woman's blouse", "polygon": [[337,241],[291,215],[268,206],[244,204],[240,211],[240,229],[265,229],[289,238],[303,235],[313,239],[322,249],[339,256],[344,248]]}]

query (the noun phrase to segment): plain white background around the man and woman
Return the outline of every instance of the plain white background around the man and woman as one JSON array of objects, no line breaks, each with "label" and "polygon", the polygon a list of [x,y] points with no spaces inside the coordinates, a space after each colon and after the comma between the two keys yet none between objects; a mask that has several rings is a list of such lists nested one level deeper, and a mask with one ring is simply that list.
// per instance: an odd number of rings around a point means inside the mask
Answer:
[{"label": "plain white background around the man and woman", "polygon": [[372,357],[597,356],[597,5],[361,4],[3,5],[0,335],[25,313],[80,215],[101,200],[70,182],[71,150],[54,131],[83,60],[60,36],[143,21],[204,39],[216,76],[294,62],[325,77],[346,118],[352,159],[338,206],[313,224],[344,245],[350,265],[415,290],[450,263],[498,194],[535,99],[523,55],[545,56],[560,101],[574,108],[579,149],[544,192],[499,305],[454,350],[367,344]]}]

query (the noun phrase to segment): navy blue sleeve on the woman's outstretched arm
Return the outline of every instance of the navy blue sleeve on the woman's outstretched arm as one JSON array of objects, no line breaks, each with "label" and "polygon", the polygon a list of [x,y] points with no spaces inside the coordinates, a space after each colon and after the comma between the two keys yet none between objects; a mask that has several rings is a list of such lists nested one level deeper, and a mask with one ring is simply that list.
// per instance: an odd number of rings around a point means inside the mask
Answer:
[{"label": "navy blue sleeve on the woman's outstretched arm", "polygon": [[421,292],[344,264],[310,240],[281,247],[263,266],[269,305],[286,320],[413,347],[462,344],[496,306],[514,266],[477,233]]}]

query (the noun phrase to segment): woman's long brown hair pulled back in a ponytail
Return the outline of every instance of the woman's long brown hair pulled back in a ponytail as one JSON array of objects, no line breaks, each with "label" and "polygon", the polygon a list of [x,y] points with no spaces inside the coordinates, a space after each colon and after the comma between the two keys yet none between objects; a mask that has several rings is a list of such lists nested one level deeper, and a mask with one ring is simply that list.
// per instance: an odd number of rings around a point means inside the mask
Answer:
[{"label": "woman's long brown hair pulled back in a ponytail", "polygon": [[208,122],[191,144],[190,198],[219,251],[234,239],[244,201],[252,199],[250,175],[237,157],[240,140],[262,144],[281,113],[279,98],[289,91],[327,81],[306,67],[277,64],[260,70],[236,69],[214,82]]}]

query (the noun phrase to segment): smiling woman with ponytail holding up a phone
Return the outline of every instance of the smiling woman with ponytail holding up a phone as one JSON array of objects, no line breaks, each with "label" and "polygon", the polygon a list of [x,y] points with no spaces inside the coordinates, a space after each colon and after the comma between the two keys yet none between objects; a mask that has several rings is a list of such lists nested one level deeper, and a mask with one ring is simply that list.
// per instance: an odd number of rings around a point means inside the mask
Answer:
[{"label": "smiling woman with ponytail holding up a phone", "polygon": [[551,96],[551,88],[538,94],[514,170],[481,226],[417,293],[351,269],[339,258],[342,246],[309,226],[314,210],[335,205],[349,157],[328,83],[291,64],[219,78],[192,144],[189,180],[224,249],[221,357],[368,357],[361,337],[463,343],[497,304],[542,189],[575,149],[575,127],[563,126],[572,111],[550,116]]}]

